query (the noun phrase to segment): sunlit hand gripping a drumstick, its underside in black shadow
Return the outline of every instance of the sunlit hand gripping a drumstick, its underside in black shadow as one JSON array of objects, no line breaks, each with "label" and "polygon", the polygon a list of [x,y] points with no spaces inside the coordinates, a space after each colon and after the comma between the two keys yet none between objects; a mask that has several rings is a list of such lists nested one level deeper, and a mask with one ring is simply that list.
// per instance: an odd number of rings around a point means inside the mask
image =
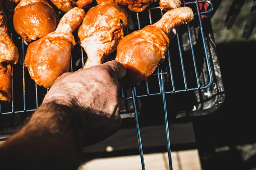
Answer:
[{"label": "sunlit hand gripping a drumstick, its underside in black shadow", "polygon": [[54,82],[43,104],[55,102],[72,109],[84,145],[95,144],[113,135],[121,125],[118,79],[125,73],[124,66],[116,61],[64,73]]}]

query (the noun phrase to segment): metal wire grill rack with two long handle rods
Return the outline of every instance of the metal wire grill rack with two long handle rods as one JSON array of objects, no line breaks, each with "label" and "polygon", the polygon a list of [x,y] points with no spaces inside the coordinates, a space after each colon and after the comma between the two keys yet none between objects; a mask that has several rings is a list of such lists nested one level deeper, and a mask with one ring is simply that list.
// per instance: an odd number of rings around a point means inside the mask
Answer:
[{"label": "metal wire grill rack with two long handle rods", "polygon": [[[200,4],[208,4],[208,8],[205,11],[200,11],[199,5]],[[164,11],[161,11],[158,5],[158,1],[155,4],[151,5],[151,8],[147,8],[145,11],[140,13],[129,12],[130,23],[125,34],[129,34],[132,31],[136,31],[138,29],[143,28],[146,25],[151,25],[155,23],[160,17],[163,15]],[[143,147],[141,142],[140,136],[140,126],[138,121],[138,99],[147,97],[147,96],[162,96],[163,99],[163,108],[164,108],[164,118],[165,118],[165,125],[166,125],[166,140],[168,146],[168,153],[169,153],[169,166],[172,169],[172,159],[171,159],[171,149],[170,149],[170,139],[169,139],[169,128],[168,128],[168,117],[167,117],[167,108],[166,108],[166,95],[168,94],[175,94],[180,92],[186,91],[197,91],[202,89],[207,89],[212,84],[212,71],[211,65],[208,57],[207,52],[207,45],[204,36],[201,14],[207,14],[212,11],[213,6],[212,3],[208,0],[201,0],[201,1],[189,1],[185,3],[183,1],[183,6],[189,6],[193,9],[195,14],[195,19],[189,23],[187,26],[180,26],[179,28],[174,29],[173,35],[169,36],[172,39],[172,42],[177,44],[174,45],[173,48],[172,44],[170,43],[168,57],[166,61],[162,63],[145,81],[141,82],[136,87],[126,87],[122,80],[120,83],[120,102],[121,104],[125,105],[122,111],[121,108],[121,116],[122,113],[131,112],[130,116],[128,117],[135,117],[135,123],[137,127],[137,134],[138,134],[138,143],[140,149],[140,158],[142,163],[142,169],[145,170],[144,158],[143,158]],[[61,11],[57,11],[58,17],[60,18],[63,13]],[[8,12],[7,12],[8,13]],[[154,14],[154,15],[153,15]],[[154,17],[152,17],[152,15]],[[29,73],[24,66],[24,56],[26,55],[26,48],[28,46],[27,42],[24,42],[19,35],[14,31],[12,26],[12,14],[8,13],[7,19],[9,21],[8,28],[9,34],[11,35],[13,41],[18,47],[20,60],[17,65],[14,65],[13,72],[14,78],[12,80],[12,101],[11,102],[0,102],[0,116],[3,115],[14,115],[15,113],[22,113],[20,116],[25,113],[32,113],[35,111],[41,104],[42,100],[44,99],[44,95],[47,93],[49,89],[45,89],[41,86],[35,84],[35,82],[29,77]],[[200,28],[200,34],[195,35],[198,36],[202,41],[201,52],[204,55],[200,55],[201,59],[204,58],[207,68],[206,73],[207,75],[200,79],[198,73],[198,57],[196,55],[196,51],[194,50],[194,33],[193,28],[190,25],[193,23],[198,23]],[[185,31],[184,31],[185,30]],[[182,32],[188,33],[188,41],[189,41],[189,48],[191,51],[191,58],[183,58],[184,53],[184,44],[180,40],[180,35]],[[176,36],[174,36],[176,34]],[[74,32],[74,36],[77,42],[77,31]],[[183,38],[183,37],[181,37]],[[177,39],[177,40],[175,40]],[[172,55],[172,51],[177,50],[177,55]],[[171,52],[170,52],[171,51]],[[114,59],[115,51],[113,54],[110,55],[108,58],[109,60]],[[79,68],[82,68],[84,62],[87,59],[87,56],[80,47],[80,45],[75,45],[72,50],[72,54],[70,55],[71,59],[71,67],[70,71],[76,71]],[[189,60],[189,62],[186,62]],[[186,64],[189,63],[189,64]],[[202,81],[203,80],[203,81]],[[131,102],[128,102],[131,101]],[[26,116],[24,116],[26,117]],[[122,116],[124,118],[125,116]],[[14,118],[11,120],[12,124],[15,124]],[[21,121],[22,122],[22,121]],[[1,123],[1,122],[0,122]],[[2,122],[4,124],[4,122]]]}]

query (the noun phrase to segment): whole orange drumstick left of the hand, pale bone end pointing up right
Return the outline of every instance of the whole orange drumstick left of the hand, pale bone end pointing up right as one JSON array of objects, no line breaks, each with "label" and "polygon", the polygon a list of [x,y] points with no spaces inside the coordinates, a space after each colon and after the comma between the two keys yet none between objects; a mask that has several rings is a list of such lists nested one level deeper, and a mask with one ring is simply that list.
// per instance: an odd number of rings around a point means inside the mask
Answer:
[{"label": "whole orange drumstick left of the hand, pale bone end pointing up right", "polygon": [[70,53],[76,44],[72,32],[81,25],[84,10],[72,8],[61,18],[54,32],[29,44],[25,66],[38,85],[50,88],[70,68]]}]

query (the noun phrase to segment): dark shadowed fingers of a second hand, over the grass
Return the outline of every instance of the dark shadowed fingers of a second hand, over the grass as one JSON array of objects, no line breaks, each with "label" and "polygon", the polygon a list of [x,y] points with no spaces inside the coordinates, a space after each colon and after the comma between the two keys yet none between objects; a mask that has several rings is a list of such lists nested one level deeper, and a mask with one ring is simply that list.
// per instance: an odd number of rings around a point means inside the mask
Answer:
[{"label": "dark shadowed fingers of a second hand, over the grass", "polygon": [[[244,5],[245,0],[233,0],[233,3],[230,6],[230,9],[227,13],[226,20],[224,22],[224,27],[226,29],[232,28],[233,24],[236,21],[239,12],[241,11],[242,6]],[[244,27],[243,39],[248,40],[253,32],[253,29],[256,24],[256,0],[253,0],[253,7],[251,8],[250,14],[247,18],[247,23]]]}]

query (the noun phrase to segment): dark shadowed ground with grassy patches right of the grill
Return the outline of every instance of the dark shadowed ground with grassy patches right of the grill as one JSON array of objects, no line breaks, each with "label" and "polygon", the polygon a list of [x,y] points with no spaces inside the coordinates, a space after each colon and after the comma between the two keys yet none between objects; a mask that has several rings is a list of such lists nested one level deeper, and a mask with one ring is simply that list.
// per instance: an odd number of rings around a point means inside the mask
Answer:
[{"label": "dark shadowed ground with grassy patches right of the grill", "polygon": [[[202,168],[255,170],[255,66],[252,59],[255,57],[256,29],[249,40],[242,39],[253,0],[245,1],[230,30],[224,28],[224,20],[233,0],[212,2],[215,3],[215,7],[219,5],[211,21],[225,101],[214,114],[198,118],[195,120],[196,123],[194,122]],[[200,130],[202,127],[204,130]]]}]

